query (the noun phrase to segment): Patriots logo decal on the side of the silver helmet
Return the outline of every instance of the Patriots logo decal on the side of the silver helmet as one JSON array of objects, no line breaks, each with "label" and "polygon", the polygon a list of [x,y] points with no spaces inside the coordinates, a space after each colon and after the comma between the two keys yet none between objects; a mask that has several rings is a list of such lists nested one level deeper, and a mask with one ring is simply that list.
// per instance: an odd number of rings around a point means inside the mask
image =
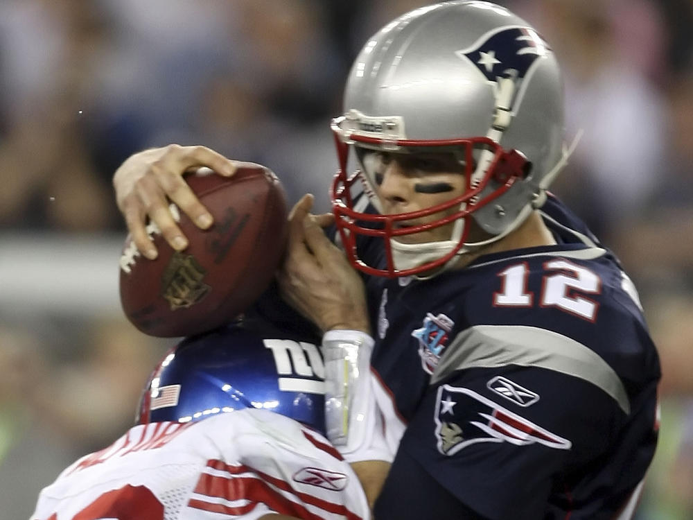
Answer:
[{"label": "Patriots logo decal on the side of the silver helmet", "polygon": [[456,54],[471,61],[486,79],[495,83],[498,78],[525,78],[536,58],[547,51],[550,47],[534,29],[502,27]]}]

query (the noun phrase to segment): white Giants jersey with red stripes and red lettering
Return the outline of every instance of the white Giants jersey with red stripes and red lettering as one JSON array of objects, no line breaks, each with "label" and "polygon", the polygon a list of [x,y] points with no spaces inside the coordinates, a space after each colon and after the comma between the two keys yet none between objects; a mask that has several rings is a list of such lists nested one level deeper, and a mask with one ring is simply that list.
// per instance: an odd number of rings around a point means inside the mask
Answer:
[{"label": "white Giants jersey with red stripes and red lettering", "polygon": [[32,520],[369,519],[356,474],[322,435],[268,410],[130,428],[41,492]]}]

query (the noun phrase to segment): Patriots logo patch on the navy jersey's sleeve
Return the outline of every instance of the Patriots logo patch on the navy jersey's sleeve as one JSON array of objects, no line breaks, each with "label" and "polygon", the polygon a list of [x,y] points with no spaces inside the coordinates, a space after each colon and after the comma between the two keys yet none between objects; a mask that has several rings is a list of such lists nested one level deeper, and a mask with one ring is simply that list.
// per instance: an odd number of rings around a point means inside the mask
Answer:
[{"label": "Patriots logo patch on the navy jersey's sleeve", "polygon": [[452,456],[477,442],[509,442],[516,446],[543,444],[570,449],[572,442],[499,406],[469,388],[442,385],[435,407],[438,451]]}]

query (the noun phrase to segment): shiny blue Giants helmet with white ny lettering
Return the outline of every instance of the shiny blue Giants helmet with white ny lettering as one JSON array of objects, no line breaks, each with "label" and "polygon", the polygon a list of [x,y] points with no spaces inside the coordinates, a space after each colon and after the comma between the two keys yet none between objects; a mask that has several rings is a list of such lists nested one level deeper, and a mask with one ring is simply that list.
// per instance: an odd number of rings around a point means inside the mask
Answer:
[{"label": "shiny blue Giants helmet with white ny lettering", "polygon": [[324,434],[322,354],[315,343],[288,337],[297,336],[236,322],[182,340],[150,375],[139,424],[263,408]]}]

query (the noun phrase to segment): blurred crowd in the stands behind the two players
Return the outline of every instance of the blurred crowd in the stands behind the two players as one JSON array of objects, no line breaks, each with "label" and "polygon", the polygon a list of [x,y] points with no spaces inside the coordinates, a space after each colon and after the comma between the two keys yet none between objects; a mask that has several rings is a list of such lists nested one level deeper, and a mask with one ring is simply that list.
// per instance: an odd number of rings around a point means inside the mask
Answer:
[{"label": "blurred crowd in the stands behind the two players", "polygon": [[[121,315],[114,170],[204,144],[328,209],[360,46],[417,0],[0,0],[0,520],[134,418],[168,341]],[[693,0],[500,1],[563,64],[556,182],[640,289],[662,358],[638,520],[693,518]]]}]

